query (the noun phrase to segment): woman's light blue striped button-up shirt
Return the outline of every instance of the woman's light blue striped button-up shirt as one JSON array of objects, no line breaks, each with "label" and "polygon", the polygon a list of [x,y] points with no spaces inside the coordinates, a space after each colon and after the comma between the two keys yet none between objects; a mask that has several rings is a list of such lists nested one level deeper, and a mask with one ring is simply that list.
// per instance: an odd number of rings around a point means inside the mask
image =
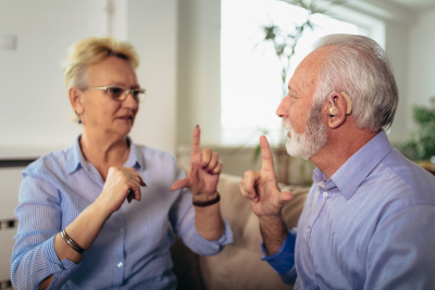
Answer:
[{"label": "woman's light blue striped button-up shirt", "polygon": [[72,147],[47,154],[23,171],[11,259],[15,289],[37,289],[52,274],[49,289],[175,289],[171,228],[201,255],[216,254],[232,242],[226,223],[216,241],[198,234],[191,193],[170,190],[185,176],[173,155],[130,142],[124,166],[134,167],[147,184],[141,201],[124,202],[112,214],[80,264],[59,261],[54,236],[98,198],[104,184],[82,154],[78,138]]}]

